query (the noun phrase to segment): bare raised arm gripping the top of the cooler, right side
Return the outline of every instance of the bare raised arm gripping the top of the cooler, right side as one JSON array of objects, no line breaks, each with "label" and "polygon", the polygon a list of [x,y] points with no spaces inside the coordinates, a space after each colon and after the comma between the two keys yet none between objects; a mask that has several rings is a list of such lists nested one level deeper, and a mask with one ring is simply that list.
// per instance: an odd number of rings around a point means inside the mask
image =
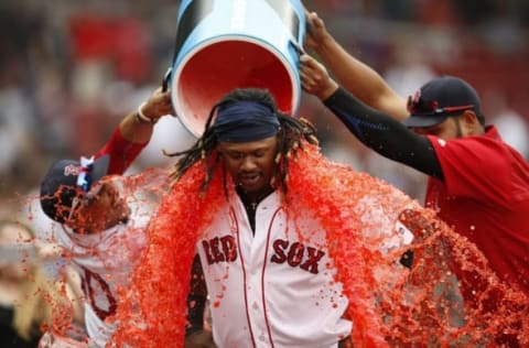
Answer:
[{"label": "bare raised arm gripping the top of the cooler, right side", "polygon": [[408,117],[406,99],[371,67],[350,55],[326,30],[316,12],[305,11],[305,46],[313,50],[336,80],[350,94],[397,120]]}]

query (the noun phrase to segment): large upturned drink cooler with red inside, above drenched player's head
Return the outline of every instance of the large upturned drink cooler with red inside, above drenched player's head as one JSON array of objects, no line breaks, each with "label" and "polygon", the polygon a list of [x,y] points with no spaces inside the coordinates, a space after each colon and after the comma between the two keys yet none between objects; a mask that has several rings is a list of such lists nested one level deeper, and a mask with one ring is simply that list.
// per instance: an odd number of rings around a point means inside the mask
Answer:
[{"label": "large upturned drink cooler with red inside, above drenched player's head", "polygon": [[300,1],[182,1],[169,84],[184,127],[202,135],[213,105],[234,88],[267,88],[281,111],[295,115],[304,35]]}]

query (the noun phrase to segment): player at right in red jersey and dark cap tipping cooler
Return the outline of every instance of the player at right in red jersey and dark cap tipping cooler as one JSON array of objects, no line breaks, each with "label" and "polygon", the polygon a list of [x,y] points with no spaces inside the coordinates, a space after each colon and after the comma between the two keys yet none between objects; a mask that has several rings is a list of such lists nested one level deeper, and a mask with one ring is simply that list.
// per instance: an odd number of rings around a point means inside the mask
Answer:
[{"label": "player at right in red jersey and dark cap tipping cooler", "polygon": [[[486,126],[475,89],[458,77],[436,77],[410,96],[402,124],[341,87],[313,57],[300,61],[303,88],[364,144],[430,176],[425,206],[475,248],[472,255],[454,248],[445,254],[466,317],[478,329],[490,326],[496,345],[523,346],[529,339],[529,325],[522,324],[529,305],[529,166],[494,126]],[[406,111],[404,102],[389,104]],[[507,300],[510,293],[518,293],[516,305]]]}]

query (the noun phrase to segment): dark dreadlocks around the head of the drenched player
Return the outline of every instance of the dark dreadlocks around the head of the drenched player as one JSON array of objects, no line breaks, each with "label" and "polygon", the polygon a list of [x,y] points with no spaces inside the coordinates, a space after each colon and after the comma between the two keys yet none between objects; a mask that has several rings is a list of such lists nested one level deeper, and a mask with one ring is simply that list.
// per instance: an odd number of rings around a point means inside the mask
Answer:
[{"label": "dark dreadlocks around the head of the drenched player", "polygon": [[266,89],[258,88],[238,88],[227,94],[219,102],[213,106],[205,124],[205,131],[193,146],[181,152],[165,153],[169,156],[182,155],[176,162],[175,170],[171,173],[172,178],[180,180],[192,165],[199,161],[204,161],[206,166],[206,178],[203,183],[202,189],[207,188],[213,173],[215,173],[220,160],[220,155],[217,151],[218,139],[215,133],[215,127],[213,126],[213,119],[219,108],[238,101],[257,101],[269,107],[278,115],[280,130],[277,135],[279,139],[278,152],[276,155],[278,171],[274,180],[279,180],[281,188],[287,191],[285,181],[288,177],[289,160],[292,156],[292,152],[302,148],[304,141],[317,144],[317,139],[315,137],[316,130],[306,119],[295,119],[285,113],[281,113],[270,93]]}]

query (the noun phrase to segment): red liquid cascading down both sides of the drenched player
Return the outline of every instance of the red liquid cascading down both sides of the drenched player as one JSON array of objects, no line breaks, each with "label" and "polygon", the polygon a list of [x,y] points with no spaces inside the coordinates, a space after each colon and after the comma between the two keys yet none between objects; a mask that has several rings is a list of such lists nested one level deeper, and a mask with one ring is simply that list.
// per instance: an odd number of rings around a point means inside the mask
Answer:
[{"label": "red liquid cascading down both sides of the drenched player", "polygon": [[[315,146],[304,148],[291,159],[284,199],[293,216],[309,208],[328,231],[355,347],[529,345],[528,296],[501,282],[473,243],[387,183],[328,162]],[[164,196],[149,227],[149,247],[121,292],[112,339],[118,347],[182,346],[196,231],[225,199],[219,171],[204,196],[198,194],[204,163]],[[141,185],[141,177],[131,181]],[[375,207],[374,217],[407,226],[413,243],[382,252],[388,236],[366,231],[387,228],[387,221],[363,219]],[[398,260],[410,249],[414,259],[408,270]],[[460,287],[455,275],[467,286]]]}]

